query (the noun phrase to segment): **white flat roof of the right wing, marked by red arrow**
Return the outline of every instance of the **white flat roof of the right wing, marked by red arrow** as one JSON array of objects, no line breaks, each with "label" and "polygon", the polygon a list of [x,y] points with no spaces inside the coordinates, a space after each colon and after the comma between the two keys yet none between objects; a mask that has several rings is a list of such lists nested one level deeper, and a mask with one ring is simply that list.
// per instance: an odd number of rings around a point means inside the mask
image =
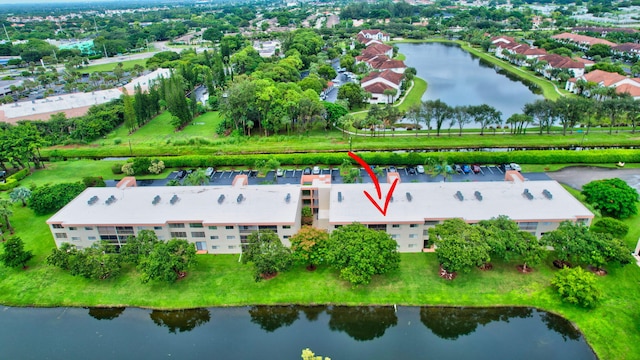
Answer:
[{"label": "white flat roof of the right wing, marked by red arrow", "polygon": [[[391,187],[380,184],[382,200]],[[528,189],[529,200],[523,193]],[[420,223],[425,220],[462,218],[477,222],[499,215],[516,221],[561,221],[575,218],[593,218],[593,213],[567,192],[558,182],[549,181],[487,181],[399,183],[383,216],[364,195],[367,191],[374,199],[377,192],[373,184],[333,184],[329,206],[330,224],[360,223]],[[548,199],[543,191],[552,198]],[[456,197],[460,191],[462,201]],[[478,200],[475,192],[480,192]],[[342,201],[338,200],[338,193]],[[410,194],[410,200],[407,196]]]}]

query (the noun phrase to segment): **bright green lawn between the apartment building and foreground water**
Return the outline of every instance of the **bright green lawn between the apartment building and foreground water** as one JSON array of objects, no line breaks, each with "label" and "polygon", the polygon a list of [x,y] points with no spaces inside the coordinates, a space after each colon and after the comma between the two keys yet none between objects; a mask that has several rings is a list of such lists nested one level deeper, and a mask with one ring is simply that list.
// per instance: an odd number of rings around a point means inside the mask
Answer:
[{"label": "bright green lawn between the apartment building and foreground water", "polygon": [[[142,306],[191,308],[249,304],[398,304],[455,306],[535,306],[558,313],[585,334],[600,359],[637,359],[640,343],[638,283],[640,268],[609,266],[598,282],[602,303],[584,310],[562,303],[549,286],[555,269],[551,257],[535,271],[522,275],[515,263],[494,262],[494,270],[459,274],[454,281],[437,276],[434,254],[402,254],[400,269],[376,277],[368,286],[352,288],[337,272],[303,267],[255,283],[251,267],[238,255],[200,255],[199,264],[175,284],[141,284],[135,270],[119,278],[90,281],[72,277],[44,264],[54,247],[44,223],[28,208],[14,208],[16,235],[36,258],[26,271],[0,267],[0,303],[9,306]],[[640,217],[628,220],[637,224]],[[636,226],[637,227],[637,226]],[[637,230],[630,236],[637,236]]]}]

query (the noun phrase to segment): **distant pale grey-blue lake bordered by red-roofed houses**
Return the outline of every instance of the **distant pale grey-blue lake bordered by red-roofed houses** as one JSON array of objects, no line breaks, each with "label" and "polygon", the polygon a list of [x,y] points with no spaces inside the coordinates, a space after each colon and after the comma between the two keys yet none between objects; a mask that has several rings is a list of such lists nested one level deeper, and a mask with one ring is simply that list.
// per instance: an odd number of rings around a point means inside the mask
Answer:
[{"label": "distant pale grey-blue lake bordered by red-roofed houses", "polygon": [[544,99],[534,84],[525,84],[506,71],[447,43],[397,44],[407,66],[427,81],[422,100],[436,100],[450,106],[491,105],[506,120],[522,113],[524,104]]}]

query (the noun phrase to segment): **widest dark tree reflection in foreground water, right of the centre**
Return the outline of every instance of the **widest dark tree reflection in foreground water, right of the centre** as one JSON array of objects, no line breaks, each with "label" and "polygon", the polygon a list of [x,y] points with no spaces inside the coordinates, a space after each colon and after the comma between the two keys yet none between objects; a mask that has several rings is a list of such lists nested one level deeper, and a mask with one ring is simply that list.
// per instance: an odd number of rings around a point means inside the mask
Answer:
[{"label": "widest dark tree reflection in foreground water, right of the centre", "polygon": [[510,318],[528,318],[530,308],[420,308],[420,321],[442,339],[455,340],[476,331],[478,325],[493,321],[509,322]]}]

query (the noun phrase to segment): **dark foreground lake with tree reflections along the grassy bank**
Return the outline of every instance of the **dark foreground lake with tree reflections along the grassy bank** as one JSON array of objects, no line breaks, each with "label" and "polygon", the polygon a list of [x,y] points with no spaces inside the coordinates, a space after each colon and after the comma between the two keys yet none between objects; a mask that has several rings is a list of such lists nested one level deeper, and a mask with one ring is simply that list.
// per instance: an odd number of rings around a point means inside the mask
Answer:
[{"label": "dark foreground lake with tree reflections along the grassy bank", "polygon": [[568,321],[531,308],[5,307],[0,323],[4,359],[596,359]]}]

